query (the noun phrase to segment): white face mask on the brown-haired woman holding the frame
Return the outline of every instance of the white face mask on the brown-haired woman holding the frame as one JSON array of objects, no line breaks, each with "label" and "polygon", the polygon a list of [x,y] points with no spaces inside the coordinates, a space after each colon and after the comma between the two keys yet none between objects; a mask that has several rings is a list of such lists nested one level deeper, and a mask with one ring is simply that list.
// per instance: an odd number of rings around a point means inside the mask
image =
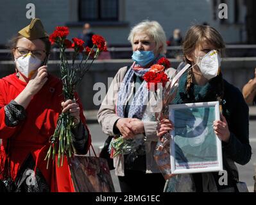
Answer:
[{"label": "white face mask on the brown-haired woman holding the frame", "polygon": [[196,57],[196,65],[198,65],[201,73],[207,79],[212,79],[219,74],[221,66],[221,58],[218,51],[212,50],[203,57]]}]

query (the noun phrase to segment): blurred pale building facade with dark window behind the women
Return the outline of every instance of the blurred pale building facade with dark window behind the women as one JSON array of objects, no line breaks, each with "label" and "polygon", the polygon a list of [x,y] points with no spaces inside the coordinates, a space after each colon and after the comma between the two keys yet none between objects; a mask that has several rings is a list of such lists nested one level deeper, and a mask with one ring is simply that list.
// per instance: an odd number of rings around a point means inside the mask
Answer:
[{"label": "blurred pale building facade with dark window behind the women", "polygon": [[[71,37],[77,36],[85,22],[95,33],[103,35],[111,46],[128,45],[130,28],[144,19],[157,20],[167,37],[175,28],[183,34],[192,24],[209,24],[223,36],[227,44],[256,43],[256,20],[253,0],[1,0],[0,44],[6,43],[30,20],[26,5],[35,4],[35,15],[46,30],[69,26]],[[228,6],[228,19],[219,19],[220,3]]]}]

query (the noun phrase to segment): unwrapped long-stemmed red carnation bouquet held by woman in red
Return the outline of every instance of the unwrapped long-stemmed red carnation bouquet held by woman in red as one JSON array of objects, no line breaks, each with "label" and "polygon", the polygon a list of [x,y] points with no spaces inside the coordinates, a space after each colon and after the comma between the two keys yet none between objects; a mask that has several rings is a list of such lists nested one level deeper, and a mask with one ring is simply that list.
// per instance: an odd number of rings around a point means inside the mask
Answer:
[{"label": "unwrapped long-stemmed red carnation bouquet held by woman in red", "polygon": [[[72,42],[67,39],[69,35],[69,28],[65,26],[56,27],[55,31],[49,36],[51,44],[57,44],[60,47],[60,74],[63,83],[64,99],[74,99],[74,93],[76,87],[83,79],[85,73],[90,69],[93,61],[99,56],[101,51],[107,51],[105,39],[99,35],[92,36],[93,46],[83,47],[83,40],[79,38],[73,38]],[[74,49],[72,64],[69,65],[67,56],[65,55],[65,49]],[[75,64],[76,58],[82,55],[78,65]],[[90,58],[90,63],[87,61]],[[74,99],[75,101],[75,99]],[[58,117],[55,133],[50,138],[50,147],[46,155],[47,167],[49,160],[55,159],[55,154],[58,154],[58,167],[64,160],[64,155],[67,157],[73,156],[75,150],[73,147],[73,133],[71,127],[74,126],[73,117],[69,116],[69,113],[61,113]],[[58,148],[57,148],[58,147]],[[58,149],[58,151],[57,151]]]}]

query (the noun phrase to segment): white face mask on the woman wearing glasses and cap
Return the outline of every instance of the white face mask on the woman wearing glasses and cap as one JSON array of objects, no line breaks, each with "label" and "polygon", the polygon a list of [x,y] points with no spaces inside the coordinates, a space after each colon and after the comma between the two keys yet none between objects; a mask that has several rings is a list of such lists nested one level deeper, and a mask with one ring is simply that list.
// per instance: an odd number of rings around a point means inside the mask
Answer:
[{"label": "white face mask on the woman wearing glasses and cap", "polygon": [[15,59],[15,63],[19,72],[28,79],[42,65],[42,61],[31,53]]}]

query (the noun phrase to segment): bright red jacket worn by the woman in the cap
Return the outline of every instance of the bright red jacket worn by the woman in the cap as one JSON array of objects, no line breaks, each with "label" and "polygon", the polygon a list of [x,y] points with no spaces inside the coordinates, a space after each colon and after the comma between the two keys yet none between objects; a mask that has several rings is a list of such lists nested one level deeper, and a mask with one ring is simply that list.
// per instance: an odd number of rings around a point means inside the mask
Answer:
[{"label": "bright red jacket worn by the woman in the cap", "polygon": [[[64,160],[63,167],[57,167],[55,163],[51,163],[46,169],[47,150],[49,149],[49,137],[53,135],[59,113],[61,113],[61,102],[64,101],[62,95],[62,81],[49,75],[46,84],[41,90],[33,96],[28,108],[26,108],[26,120],[16,127],[8,127],[4,122],[5,113],[4,106],[15,99],[27,83],[22,82],[15,74],[0,79],[0,170],[3,168],[3,161],[6,158],[6,143],[9,138],[10,143],[10,168],[13,180],[17,176],[17,172],[21,167],[28,154],[32,154],[36,166],[40,169],[47,183],[51,188],[51,192],[74,192],[71,174]],[[81,102],[80,119],[86,127],[85,117]],[[91,138],[87,141],[87,151],[90,147]],[[2,176],[0,175],[0,178]]]}]

